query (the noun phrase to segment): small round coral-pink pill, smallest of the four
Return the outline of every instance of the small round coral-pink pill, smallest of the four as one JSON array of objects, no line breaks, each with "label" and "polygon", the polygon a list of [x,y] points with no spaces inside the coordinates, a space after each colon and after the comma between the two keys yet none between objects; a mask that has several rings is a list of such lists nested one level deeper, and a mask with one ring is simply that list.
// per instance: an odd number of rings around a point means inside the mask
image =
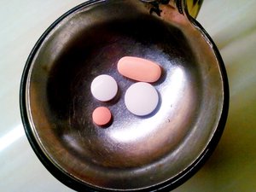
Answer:
[{"label": "small round coral-pink pill, smallest of the four", "polygon": [[96,125],[107,125],[112,118],[112,114],[108,108],[99,107],[92,113],[92,120]]}]

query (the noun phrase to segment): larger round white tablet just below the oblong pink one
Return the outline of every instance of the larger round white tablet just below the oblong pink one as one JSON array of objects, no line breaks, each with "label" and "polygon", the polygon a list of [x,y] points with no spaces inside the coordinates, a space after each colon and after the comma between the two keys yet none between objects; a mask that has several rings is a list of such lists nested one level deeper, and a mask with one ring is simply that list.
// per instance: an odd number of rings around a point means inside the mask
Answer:
[{"label": "larger round white tablet just below the oblong pink one", "polygon": [[152,113],[157,107],[159,96],[154,86],[144,82],[132,84],[125,92],[125,106],[139,116]]}]

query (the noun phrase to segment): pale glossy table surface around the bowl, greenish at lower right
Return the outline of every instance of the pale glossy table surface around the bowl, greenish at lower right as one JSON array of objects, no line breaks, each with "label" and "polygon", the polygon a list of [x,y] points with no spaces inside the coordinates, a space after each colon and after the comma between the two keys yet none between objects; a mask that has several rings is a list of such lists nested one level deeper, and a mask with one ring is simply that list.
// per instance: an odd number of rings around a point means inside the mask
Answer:
[{"label": "pale glossy table surface around the bowl, greenish at lower right", "polygon": [[[20,77],[44,30],[82,0],[0,1],[0,191],[73,191],[40,163],[20,119]],[[224,135],[207,164],[176,192],[256,191],[256,1],[205,0],[198,20],[230,80]]]}]

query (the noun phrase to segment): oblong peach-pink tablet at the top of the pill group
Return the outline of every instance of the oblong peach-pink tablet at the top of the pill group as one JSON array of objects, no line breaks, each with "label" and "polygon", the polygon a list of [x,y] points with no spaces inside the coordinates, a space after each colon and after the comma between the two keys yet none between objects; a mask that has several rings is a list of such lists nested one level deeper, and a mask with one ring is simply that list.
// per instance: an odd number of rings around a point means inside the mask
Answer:
[{"label": "oblong peach-pink tablet at the top of the pill group", "polygon": [[160,79],[161,67],[153,61],[125,56],[118,62],[118,71],[129,79],[153,83]]}]

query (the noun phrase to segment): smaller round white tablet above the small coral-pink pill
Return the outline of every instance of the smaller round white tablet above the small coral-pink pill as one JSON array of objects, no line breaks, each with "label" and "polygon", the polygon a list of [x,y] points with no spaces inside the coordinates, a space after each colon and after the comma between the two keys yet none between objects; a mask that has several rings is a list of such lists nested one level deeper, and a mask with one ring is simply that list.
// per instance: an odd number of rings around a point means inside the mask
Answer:
[{"label": "smaller round white tablet above the small coral-pink pill", "polygon": [[90,84],[92,95],[101,102],[108,102],[118,92],[118,85],[113,77],[102,74],[93,79]]}]

